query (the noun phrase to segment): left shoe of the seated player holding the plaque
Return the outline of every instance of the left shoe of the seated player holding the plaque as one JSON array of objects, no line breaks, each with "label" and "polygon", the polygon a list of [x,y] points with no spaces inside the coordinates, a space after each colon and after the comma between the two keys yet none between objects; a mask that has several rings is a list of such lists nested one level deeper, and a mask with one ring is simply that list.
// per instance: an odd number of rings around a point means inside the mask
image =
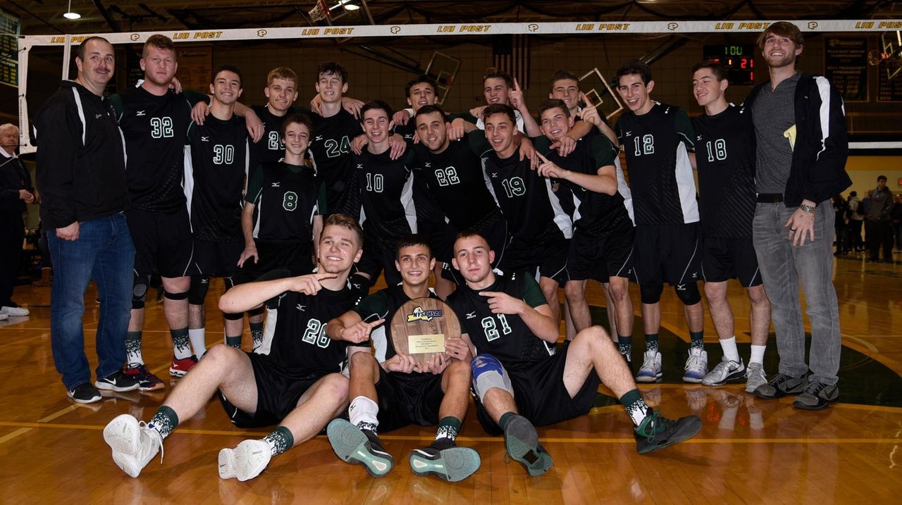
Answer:
[{"label": "left shoe of the seated player holding the plaque", "polygon": [[362,465],[373,477],[382,477],[394,467],[394,458],[382,447],[379,436],[369,429],[355,427],[345,419],[333,419],[326,427],[326,434],[332,450],[342,461]]}]

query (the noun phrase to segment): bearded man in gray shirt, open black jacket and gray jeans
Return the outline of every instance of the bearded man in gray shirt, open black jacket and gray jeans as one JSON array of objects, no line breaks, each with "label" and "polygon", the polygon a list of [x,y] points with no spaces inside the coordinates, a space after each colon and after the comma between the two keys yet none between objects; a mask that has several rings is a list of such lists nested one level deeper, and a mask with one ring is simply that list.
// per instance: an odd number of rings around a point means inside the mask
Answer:
[{"label": "bearded man in gray shirt, open black jacket and gray jeans", "polygon": [[[769,82],[755,87],[750,107],[757,140],[755,252],[770,298],[778,374],[755,390],[775,399],[796,394],[797,409],[824,409],[839,398],[842,337],[833,288],[830,197],[851,186],[842,97],[823,77],[796,69],[803,40],[795,24],[772,23],[758,39]],[[811,376],[798,285],[811,320]]]}]

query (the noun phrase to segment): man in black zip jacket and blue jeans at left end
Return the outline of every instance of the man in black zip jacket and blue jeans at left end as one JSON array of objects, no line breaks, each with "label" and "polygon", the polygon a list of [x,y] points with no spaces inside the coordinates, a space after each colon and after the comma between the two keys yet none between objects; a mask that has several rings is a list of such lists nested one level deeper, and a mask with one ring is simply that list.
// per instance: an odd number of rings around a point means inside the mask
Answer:
[{"label": "man in black zip jacket and blue jeans at left end", "polygon": [[[138,382],[121,372],[132,308],[134,245],[122,134],[104,96],[113,77],[113,46],[90,37],[78,46],[78,78],[63,81],[34,118],[41,222],[53,258],[51,344],[69,398],[100,399],[97,389],[126,391]],[[97,283],[97,381],[85,355],[85,290]]]}]

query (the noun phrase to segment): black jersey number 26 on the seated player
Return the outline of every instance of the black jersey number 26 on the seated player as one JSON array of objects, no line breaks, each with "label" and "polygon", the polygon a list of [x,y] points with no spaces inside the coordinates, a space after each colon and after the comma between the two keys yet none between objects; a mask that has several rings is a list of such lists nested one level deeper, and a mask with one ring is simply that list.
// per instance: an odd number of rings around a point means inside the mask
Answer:
[{"label": "black jersey number 26 on the seated player", "polygon": [[273,368],[290,378],[341,372],[345,341],[326,335],[326,324],[360,301],[360,291],[346,284],[339,291],[320,289],[316,295],[287,291],[279,297],[270,358]]}]

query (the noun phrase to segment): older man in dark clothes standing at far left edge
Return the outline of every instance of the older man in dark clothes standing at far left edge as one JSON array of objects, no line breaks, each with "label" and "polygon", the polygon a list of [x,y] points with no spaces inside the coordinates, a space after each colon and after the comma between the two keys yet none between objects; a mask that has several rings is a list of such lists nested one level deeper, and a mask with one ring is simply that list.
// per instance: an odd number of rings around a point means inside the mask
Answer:
[{"label": "older man in dark clothes standing at far left edge", "polygon": [[0,125],[0,320],[28,316],[28,309],[13,301],[13,286],[22,258],[25,204],[34,202],[34,188],[28,170],[15,155],[17,147],[19,128],[11,123]]}]

